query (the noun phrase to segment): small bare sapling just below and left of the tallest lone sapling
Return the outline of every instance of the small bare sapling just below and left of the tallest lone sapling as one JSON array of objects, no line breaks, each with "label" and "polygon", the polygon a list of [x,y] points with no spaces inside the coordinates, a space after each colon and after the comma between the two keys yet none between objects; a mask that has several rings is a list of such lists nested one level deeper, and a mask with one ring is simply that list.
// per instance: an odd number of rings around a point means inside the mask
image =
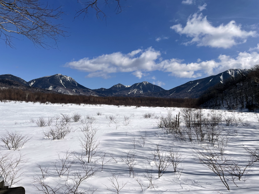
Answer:
[{"label": "small bare sapling just below and left of the tallest lone sapling", "polygon": [[61,156],[61,153],[58,153],[58,156],[59,159],[52,162],[55,171],[59,176],[63,176],[65,173],[69,174],[71,166],[75,163],[75,160],[72,158],[73,153],[66,151],[63,156]]}]

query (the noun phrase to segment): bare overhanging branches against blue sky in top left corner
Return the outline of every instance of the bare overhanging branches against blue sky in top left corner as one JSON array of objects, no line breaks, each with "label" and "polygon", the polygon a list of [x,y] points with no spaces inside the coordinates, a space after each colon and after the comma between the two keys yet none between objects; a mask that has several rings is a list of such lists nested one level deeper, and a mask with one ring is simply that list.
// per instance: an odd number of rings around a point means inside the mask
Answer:
[{"label": "bare overhanging branches against blue sky in top left corner", "polygon": [[51,47],[46,38],[56,44],[59,36],[66,36],[63,25],[53,23],[63,14],[61,6],[51,8],[38,0],[1,0],[0,4],[0,38],[7,46],[14,48],[12,39],[18,34],[43,48]]}]

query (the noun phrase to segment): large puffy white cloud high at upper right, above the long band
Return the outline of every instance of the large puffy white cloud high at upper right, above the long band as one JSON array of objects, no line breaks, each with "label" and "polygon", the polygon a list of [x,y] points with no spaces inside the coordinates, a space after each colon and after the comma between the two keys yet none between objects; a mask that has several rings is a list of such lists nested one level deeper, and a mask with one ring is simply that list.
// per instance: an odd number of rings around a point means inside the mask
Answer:
[{"label": "large puffy white cloud high at upper right, above the long band", "polygon": [[210,46],[215,48],[230,48],[233,45],[246,42],[248,37],[256,37],[258,34],[255,31],[244,31],[241,25],[236,25],[232,20],[228,24],[221,24],[218,27],[212,26],[201,14],[191,15],[185,27],[177,24],[170,27],[179,34],[185,34],[191,37],[192,40],[184,44],[197,43],[197,46]]}]

